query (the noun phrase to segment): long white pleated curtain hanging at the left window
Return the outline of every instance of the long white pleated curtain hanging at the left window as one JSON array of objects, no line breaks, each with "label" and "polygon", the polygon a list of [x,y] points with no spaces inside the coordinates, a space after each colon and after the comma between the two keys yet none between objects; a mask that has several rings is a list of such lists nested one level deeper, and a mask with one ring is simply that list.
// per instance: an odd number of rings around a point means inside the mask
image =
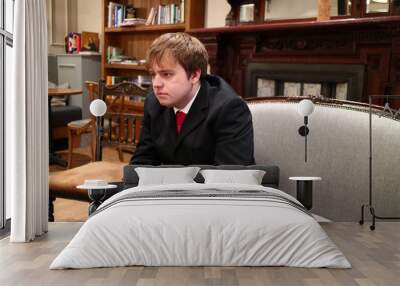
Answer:
[{"label": "long white pleated curtain hanging at the left window", "polygon": [[12,242],[48,227],[48,95],[45,0],[16,0],[12,94],[6,98],[6,187]]}]

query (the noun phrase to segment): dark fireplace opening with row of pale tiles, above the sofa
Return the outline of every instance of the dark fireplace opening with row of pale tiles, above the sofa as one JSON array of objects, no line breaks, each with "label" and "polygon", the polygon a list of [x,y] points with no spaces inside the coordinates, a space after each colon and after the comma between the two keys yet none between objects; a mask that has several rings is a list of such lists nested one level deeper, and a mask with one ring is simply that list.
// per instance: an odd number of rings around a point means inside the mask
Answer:
[{"label": "dark fireplace opening with row of pale tiles, above the sofa", "polygon": [[245,97],[316,96],[362,101],[364,65],[249,63]]}]

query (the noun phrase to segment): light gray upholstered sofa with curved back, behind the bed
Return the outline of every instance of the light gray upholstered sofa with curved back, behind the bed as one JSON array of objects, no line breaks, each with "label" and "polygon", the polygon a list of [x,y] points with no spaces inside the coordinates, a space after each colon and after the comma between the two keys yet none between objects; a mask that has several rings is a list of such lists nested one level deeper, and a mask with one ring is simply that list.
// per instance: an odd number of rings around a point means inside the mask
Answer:
[{"label": "light gray upholstered sofa with curved back, behind the bed", "polygon": [[[296,194],[290,176],[320,176],[314,182],[313,209],[334,221],[358,221],[368,203],[369,113],[350,102],[316,103],[309,117],[308,161],[298,100],[249,101],[257,164],[280,168],[280,189]],[[400,121],[372,115],[373,206],[380,216],[400,216]],[[368,218],[369,216],[367,216]]]}]

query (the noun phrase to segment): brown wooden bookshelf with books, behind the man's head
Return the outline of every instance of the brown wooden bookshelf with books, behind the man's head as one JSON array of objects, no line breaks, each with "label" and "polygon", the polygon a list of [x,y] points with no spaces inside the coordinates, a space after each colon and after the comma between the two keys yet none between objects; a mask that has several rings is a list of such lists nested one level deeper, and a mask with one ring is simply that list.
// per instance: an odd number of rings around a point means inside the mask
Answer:
[{"label": "brown wooden bookshelf with books, behind the man's head", "polygon": [[[110,2],[112,2],[110,6]],[[182,5],[183,2],[183,5]],[[117,16],[115,5],[125,8]],[[173,24],[149,24],[135,26],[118,26],[115,18],[121,19],[121,13],[127,9],[134,8],[136,17],[148,20],[149,13],[153,10],[159,11],[160,6],[168,7],[168,15],[171,15],[170,22]],[[111,7],[111,10],[110,10]],[[126,8],[128,7],[128,8]],[[180,8],[182,12],[179,12]],[[114,13],[113,13],[114,12]],[[180,14],[180,13],[183,13]],[[103,0],[102,1],[102,61],[101,78],[107,80],[114,77],[136,77],[147,75],[143,64],[126,64],[110,62],[112,49],[117,49],[123,56],[142,60],[153,40],[163,33],[184,32],[189,29],[204,27],[205,0]],[[115,17],[114,17],[114,16]],[[180,21],[183,18],[183,22]],[[157,16],[155,17],[157,22]],[[161,21],[163,22],[163,21]],[[115,59],[115,57],[113,57]]]}]

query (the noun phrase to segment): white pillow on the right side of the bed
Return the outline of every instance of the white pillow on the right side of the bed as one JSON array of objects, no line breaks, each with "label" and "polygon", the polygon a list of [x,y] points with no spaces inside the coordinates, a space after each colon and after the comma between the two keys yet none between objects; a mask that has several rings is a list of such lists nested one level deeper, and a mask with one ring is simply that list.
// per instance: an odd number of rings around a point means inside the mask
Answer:
[{"label": "white pillow on the right side of the bed", "polygon": [[204,177],[204,183],[230,183],[261,185],[265,171],[261,170],[201,170],[200,174]]}]

